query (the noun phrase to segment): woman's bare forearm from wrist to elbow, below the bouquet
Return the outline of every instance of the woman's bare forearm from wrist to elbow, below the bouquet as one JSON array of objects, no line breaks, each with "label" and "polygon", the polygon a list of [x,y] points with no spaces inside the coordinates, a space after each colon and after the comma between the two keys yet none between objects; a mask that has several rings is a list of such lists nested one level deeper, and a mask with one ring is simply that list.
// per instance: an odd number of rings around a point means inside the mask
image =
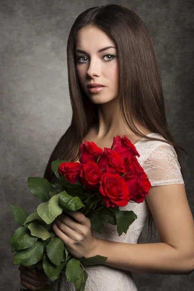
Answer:
[{"label": "woman's bare forearm from wrist to elbow, below the bouquet", "polygon": [[96,248],[87,257],[108,257],[105,265],[137,273],[188,275],[193,259],[163,243],[125,243],[97,238]]}]

